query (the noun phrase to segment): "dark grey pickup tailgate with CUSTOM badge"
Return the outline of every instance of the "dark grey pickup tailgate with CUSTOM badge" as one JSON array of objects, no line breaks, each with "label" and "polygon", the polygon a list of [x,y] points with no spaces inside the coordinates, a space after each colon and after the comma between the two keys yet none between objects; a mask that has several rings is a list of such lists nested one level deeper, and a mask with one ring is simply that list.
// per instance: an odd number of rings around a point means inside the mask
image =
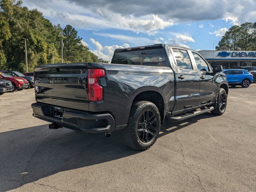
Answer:
[{"label": "dark grey pickup tailgate with CUSTOM badge", "polygon": [[52,64],[35,68],[36,100],[88,111],[87,64]]}]

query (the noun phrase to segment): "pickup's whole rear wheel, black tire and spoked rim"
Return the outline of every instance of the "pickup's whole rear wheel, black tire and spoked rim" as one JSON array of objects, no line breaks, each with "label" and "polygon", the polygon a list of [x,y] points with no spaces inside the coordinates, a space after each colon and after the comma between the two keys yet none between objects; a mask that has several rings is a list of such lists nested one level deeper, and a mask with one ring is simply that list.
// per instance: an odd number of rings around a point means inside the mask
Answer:
[{"label": "pickup's whole rear wheel, black tire and spoked rim", "polygon": [[154,103],[134,102],[128,125],[122,130],[126,144],[136,150],[147,150],[156,142],[160,122],[160,113]]}]

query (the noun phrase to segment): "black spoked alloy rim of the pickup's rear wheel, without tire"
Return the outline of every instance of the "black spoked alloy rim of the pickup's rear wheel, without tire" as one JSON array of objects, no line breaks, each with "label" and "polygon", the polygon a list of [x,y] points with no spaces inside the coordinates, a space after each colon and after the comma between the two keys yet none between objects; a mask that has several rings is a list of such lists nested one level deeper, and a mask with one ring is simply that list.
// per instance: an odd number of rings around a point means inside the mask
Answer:
[{"label": "black spoked alloy rim of the pickup's rear wheel, without tire", "polygon": [[144,143],[150,142],[157,132],[156,114],[152,110],[146,110],[140,116],[138,122],[138,136]]}]

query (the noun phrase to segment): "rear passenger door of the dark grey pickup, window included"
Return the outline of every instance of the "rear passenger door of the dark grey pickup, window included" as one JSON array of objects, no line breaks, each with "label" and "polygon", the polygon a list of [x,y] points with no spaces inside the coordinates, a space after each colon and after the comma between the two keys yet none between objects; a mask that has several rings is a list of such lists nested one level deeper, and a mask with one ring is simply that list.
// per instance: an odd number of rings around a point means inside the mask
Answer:
[{"label": "rear passenger door of the dark grey pickup, window included", "polygon": [[200,80],[199,75],[190,59],[191,52],[182,48],[170,48],[174,57],[176,72],[176,108],[181,110],[196,106],[199,102]]}]

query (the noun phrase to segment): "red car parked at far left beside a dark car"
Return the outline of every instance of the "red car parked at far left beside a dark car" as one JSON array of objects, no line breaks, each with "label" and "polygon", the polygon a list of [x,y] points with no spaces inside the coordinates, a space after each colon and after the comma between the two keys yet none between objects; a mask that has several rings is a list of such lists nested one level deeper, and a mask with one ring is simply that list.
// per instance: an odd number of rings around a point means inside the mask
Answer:
[{"label": "red car parked at far left beside a dark car", "polygon": [[10,92],[14,92],[15,90],[22,90],[28,88],[29,86],[28,80],[22,77],[14,77],[2,71],[0,71],[0,76],[2,77],[2,79],[6,79],[12,82],[12,90]]}]

